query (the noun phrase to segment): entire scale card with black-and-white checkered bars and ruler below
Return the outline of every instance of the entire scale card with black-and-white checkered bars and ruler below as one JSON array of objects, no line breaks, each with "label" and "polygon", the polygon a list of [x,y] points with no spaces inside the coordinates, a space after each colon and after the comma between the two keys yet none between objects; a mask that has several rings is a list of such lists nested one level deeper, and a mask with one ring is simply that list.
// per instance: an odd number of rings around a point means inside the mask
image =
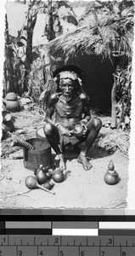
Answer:
[{"label": "entire scale card with black-and-white checkered bars and ruler below", "polygon": [[[76,235],[73,236],[70,230]],[[133,256],[135,222],[1,221],[0,255]]]}]

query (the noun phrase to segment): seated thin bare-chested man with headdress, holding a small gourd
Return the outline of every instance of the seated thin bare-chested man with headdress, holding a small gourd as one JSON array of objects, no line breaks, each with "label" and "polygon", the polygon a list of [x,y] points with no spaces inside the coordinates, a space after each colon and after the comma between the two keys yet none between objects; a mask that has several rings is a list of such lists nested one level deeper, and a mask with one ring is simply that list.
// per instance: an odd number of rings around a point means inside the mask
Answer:
[{"label": "seated thin bare-chested man with headdress, holding a small gourd", "polygon": [[[98,118],[91,119],[88,96],[82,90],[82,71],[74,65],[66,65],[53,73],[57,83],[57,93],[50,96],[46,114],[44,132],[56,154],[59,155],[59,167],[65,170],[63,145],[84,143],[77,161],[85,170],[92,165],[87,160],[87,152],[98,137],[102,126]],[[52,116],[55,112],[55,121]],[[82,136],[74,133],[76,125],[82,125]]]}]

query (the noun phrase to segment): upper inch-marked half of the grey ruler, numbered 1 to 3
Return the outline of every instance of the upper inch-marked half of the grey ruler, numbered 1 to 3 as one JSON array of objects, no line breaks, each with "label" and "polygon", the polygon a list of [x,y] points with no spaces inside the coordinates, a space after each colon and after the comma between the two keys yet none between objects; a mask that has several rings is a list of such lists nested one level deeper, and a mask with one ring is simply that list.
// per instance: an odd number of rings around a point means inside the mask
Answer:
[{"label": "upper inch-marked half of the grey ruler, numbered 1 to 3", "polygon": [[135,247],[135,236],[0,236],[0,246]]}]

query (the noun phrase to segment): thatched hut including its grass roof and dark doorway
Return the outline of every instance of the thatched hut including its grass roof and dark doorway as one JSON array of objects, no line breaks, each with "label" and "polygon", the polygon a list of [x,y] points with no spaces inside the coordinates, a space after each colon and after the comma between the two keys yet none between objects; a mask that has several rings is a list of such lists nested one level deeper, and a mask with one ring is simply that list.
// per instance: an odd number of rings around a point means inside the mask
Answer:
[{"label": "thatched hut including its grass roof and dark doorway", "polygon": [[93,107],[110,108],[115,69],[126,67],[132,59],[134,5],[132,1],[100,2],[96,9],[94,3],[82,26],[49,45],[52,55],[63,55],[65,61],[82,67]]}]

